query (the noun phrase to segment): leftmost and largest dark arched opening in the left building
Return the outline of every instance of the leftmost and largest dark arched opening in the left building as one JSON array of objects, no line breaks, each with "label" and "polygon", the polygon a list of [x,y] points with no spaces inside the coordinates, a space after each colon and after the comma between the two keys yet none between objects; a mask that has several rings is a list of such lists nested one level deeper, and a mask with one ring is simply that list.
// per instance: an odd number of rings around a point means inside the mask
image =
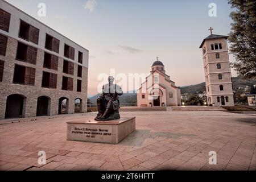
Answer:
[{"label": "leftmost and largest dark arched opening in the left building", "polygon": [[5,118],[22,118],[24,117],[24,106],[26,97],[19,94],[12,94],[7,97]]}]

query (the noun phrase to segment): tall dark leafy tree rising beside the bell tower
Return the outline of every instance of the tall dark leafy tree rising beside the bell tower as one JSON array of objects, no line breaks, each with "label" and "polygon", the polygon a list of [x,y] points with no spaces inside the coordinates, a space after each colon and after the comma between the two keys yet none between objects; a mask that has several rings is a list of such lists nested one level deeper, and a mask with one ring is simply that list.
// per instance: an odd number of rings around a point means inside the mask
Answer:
[{"label": "tall dark leafy tree rising beside the bell tower", "polygon": [[232,67],[245,78],[256,77],[256,1],[229,0],[233,19],[229,34],[230,52],[236,61]]}]

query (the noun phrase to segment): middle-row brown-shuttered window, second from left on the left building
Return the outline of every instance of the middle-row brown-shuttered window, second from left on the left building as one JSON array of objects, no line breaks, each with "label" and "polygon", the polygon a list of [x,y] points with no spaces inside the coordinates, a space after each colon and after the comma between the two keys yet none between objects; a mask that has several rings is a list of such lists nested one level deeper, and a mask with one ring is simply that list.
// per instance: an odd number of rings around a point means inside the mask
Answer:
[{"label": "middle-row brown-shuttered window, second from left on the left building", "polygon": [[36,64],[36,57],[38,55],[38,49],[27,46],[23,43],[18,43],[16,59],[24,61],[31,64]]}]

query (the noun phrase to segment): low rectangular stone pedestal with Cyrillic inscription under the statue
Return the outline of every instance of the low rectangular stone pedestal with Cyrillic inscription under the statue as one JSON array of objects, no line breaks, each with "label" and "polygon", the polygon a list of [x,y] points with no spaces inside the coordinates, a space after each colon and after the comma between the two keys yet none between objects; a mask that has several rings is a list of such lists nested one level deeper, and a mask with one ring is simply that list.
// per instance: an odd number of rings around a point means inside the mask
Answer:
[{"label": "low rectangular stone pedestal with Cyrillic inscription under the statue", "polygon": [[67,140],[117,144],[133,131],[135,117],[105,122],[93,118],[67,122]]}]

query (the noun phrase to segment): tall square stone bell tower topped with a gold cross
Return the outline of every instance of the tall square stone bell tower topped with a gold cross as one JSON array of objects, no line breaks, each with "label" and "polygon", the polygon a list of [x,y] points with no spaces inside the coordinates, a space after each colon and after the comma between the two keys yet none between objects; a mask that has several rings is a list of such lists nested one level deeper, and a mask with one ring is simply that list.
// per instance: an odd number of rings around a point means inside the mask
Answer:
[{"label": "tall square stone bell tower topped with a gold cross", "polygon": [[232,75],[225,35],[212,34],[203,40],[203,64],[208,106],[234,106]]}]

